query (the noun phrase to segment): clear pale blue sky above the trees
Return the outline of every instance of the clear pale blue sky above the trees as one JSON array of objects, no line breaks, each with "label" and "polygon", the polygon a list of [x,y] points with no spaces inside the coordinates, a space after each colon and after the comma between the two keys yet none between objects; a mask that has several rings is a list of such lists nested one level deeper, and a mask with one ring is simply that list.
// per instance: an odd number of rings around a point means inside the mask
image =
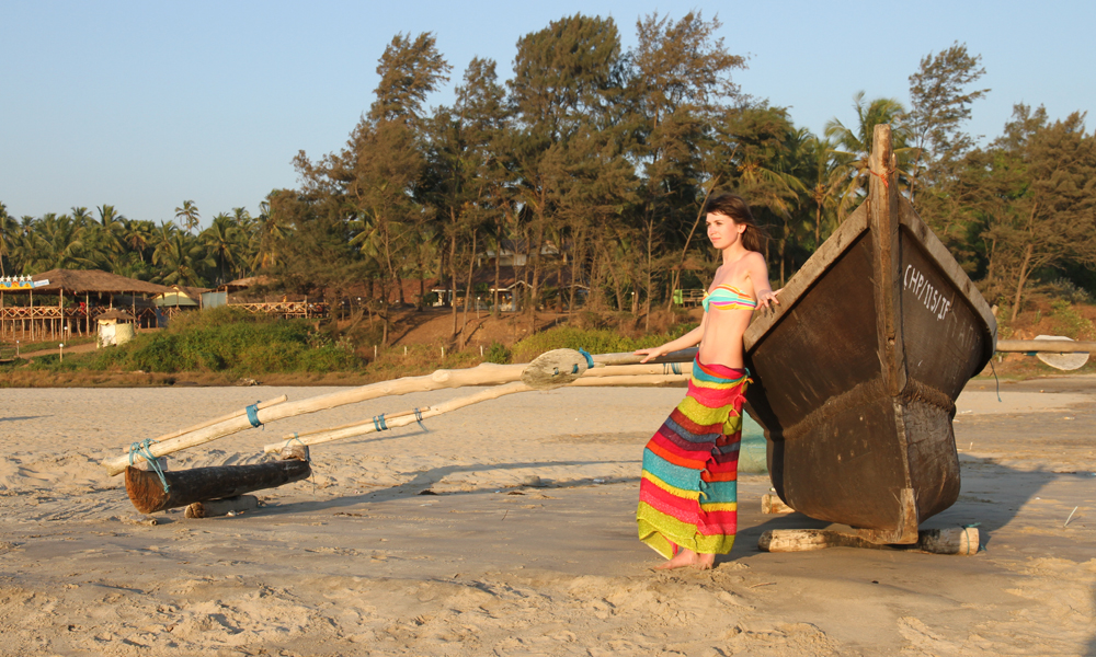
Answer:
[{"label": "clear pale blue sky above the trees", "polygon": [[[669,5],[669,7],[667,7]],[[573,13],[612,16],[624,47],[640,15],[718,15],[750,57],[742,90],[821,132],[854,120],[853,95],[909,102],[922,57],[966,43],[989,97],[969,131],[993,138],[1016,103],[1051,118],[1096,108],[1096,3],[973,2],[102,2],[0,3],[0,201],[21,217],[114,205],[170,220],[192,199],[254,212],[294,187],[298,150],[339,150],[373,101],[376,65],[397,33],[433,32],[453,66],[448,104],[473,56],[509,78],[524,34]],[[1089,117],[1089,129],[1094,117]]]}]

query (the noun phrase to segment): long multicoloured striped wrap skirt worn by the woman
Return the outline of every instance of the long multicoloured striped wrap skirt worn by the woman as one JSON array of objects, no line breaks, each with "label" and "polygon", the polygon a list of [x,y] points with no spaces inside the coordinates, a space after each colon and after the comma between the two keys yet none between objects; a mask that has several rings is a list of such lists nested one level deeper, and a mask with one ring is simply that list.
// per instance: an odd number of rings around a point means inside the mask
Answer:
[{"label": "long multicoloured striped wrap skirt worn by the woman", "polygon": [[671,558],[678,549],[727,554],[738,530],[739,443],[745,370],[693,361],[688,394],[643,450],[639,540]]}]

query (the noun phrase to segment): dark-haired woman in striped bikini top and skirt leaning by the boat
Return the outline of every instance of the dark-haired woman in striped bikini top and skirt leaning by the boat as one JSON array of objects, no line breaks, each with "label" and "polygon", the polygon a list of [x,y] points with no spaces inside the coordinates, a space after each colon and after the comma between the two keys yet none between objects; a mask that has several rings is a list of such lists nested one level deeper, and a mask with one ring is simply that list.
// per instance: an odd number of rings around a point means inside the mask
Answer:
[{"label": "dark-haired woman in striped bikini top and skirt leaning by the boat", "polygon": [[[705,206],[708,239],[723,264],[704,297],[700,325],[675,341],[639,349],[641,362],[699,343],[685,400],[643,450],[639,539],[665,556],[659,569],[708,569],[727,554],[738,529],[738,462],[742,400],[749,374],[742,336],[758,306],[779,303],[768,285],[765,235],[740,196]],[[779,290],[778,290],[779,291]]]}]

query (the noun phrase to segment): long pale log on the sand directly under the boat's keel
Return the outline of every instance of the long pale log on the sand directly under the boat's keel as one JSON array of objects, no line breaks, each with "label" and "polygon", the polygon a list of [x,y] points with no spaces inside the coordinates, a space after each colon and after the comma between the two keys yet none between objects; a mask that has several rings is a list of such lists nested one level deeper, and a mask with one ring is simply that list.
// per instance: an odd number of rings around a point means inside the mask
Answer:
[{"label": "long pale log on the sand directly under the boat's keel", "polygon": [[977,554],[978,545],[978,529],[973,527],[923,529],[917,532],[917,542],[912,545],[872,543],[860,537],[832,529],[773,529],[763,533],[757,541],[757,549],[762,552],[810,552],[826,548],[863,548],[867,550],[913,550],[960,556]]}]

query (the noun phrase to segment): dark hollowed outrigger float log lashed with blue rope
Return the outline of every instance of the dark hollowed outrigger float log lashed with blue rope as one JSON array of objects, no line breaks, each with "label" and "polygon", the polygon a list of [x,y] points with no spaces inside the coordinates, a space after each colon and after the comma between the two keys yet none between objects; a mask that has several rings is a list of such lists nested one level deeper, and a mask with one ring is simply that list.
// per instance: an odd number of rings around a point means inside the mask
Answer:
[{"label": "dark hollowed outrigger float log lashed with blue rope", "polygon": [[195,502],[236,497],[244,493],[275,488],[307,479],[312,470],[307,461],[286,459],[251,465],[219,465],[164,472],[168,491],[156,472],[127,466],[126,494],[137,510],[153,514]]}]

